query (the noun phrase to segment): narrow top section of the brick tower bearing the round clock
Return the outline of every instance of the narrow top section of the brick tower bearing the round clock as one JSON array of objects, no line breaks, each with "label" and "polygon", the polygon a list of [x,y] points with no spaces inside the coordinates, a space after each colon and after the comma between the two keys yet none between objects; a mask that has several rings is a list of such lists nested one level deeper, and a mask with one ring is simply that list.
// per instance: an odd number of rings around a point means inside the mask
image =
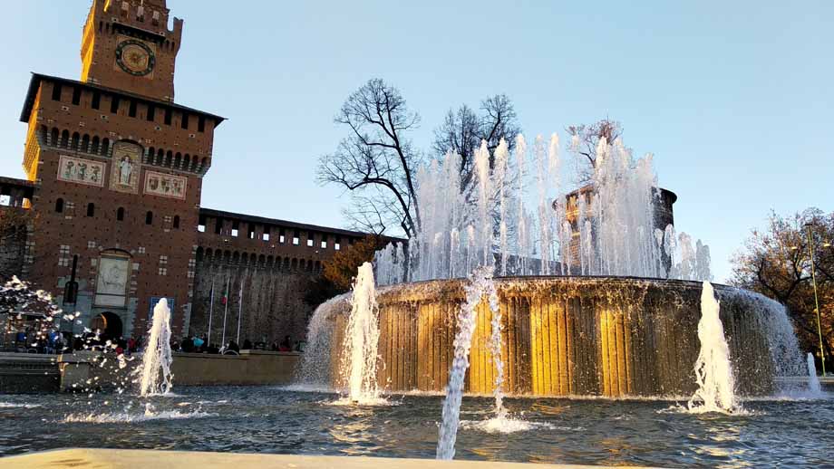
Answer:
[{"label": "narrow top section of the brick tower bearing the round clock", "polygon": [[165,0],[94,0],[82,37],[82,81],[174,101],[182,20]]}]

